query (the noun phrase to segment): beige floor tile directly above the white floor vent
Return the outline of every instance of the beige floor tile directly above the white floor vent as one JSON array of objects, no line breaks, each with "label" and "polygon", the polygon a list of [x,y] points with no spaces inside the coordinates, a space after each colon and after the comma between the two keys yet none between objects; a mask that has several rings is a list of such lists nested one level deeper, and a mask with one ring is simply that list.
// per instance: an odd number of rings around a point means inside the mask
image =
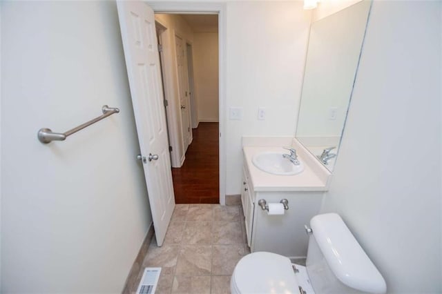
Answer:
[{"label": "beige floor tile directly above the white floor vent", "polygon": [[161,267],[161,273],[164,275],[172,275],[175,272],[175,266],[177,265],[178,253],[180,253],[180,246],[176,245],[163,245],[161,247],[151,244],[147,251],[146,258],[143,261],[143,268]]}]

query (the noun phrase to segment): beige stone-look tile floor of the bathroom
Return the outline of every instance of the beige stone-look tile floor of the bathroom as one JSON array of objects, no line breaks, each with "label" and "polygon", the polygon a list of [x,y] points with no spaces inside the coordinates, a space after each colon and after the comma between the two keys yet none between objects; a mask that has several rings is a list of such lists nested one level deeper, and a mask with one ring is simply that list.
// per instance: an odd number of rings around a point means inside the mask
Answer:
[{"label": "beige stone-look tile floor of the bathroom", "polygon": [[142,264],[162,267],[156,293],[230,293],[230,277],[250,253],[241,206],[177,204],[161,247],[153,238]]}]

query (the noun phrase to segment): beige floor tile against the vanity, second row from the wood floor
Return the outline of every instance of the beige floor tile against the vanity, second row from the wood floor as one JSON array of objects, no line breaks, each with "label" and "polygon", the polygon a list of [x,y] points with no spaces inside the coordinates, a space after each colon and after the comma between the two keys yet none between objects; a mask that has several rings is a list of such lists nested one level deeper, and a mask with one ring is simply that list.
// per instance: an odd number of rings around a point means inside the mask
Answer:
[{"label": "beige floor tile against the vanity, second row from the wood floor", "polygon": [[213,222],[213,244],[243,244],[240,222]]}]

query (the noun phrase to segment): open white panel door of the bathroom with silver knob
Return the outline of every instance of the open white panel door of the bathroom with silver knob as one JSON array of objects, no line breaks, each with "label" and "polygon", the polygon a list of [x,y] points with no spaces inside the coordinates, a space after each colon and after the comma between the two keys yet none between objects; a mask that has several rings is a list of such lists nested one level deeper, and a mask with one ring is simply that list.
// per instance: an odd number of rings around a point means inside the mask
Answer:
[{"label": "open white panel door of the bathroom with silver knob", "polygon": [[161,246],[175,197],[155,17],[141,1],[118,1],[117,7],[155,237]]}]

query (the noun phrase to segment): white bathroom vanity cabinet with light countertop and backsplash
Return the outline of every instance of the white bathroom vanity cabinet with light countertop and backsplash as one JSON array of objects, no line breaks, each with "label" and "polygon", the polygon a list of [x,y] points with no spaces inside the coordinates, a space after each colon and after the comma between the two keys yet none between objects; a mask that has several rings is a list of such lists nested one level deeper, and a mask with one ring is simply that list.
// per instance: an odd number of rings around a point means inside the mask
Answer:
[{"label": "white bathroom vanity cabinet with light countertop and backsplash", "polygon": [[[294,139],[296,141],[296,139]],[[308,236],[305,225],[319,213],[324,191],[330,178],[327,170],[300,144],[291,144],[304,165],[297,175],[273,175],[257,168],[253,156],[266,152],[289,153],[281,147],[244,146],[241,202],[244,211],[247,244],[251,252],[269,251],[287,257],[307,255]],[[283,215],[268,215],[258,202],[267,204],[288,200]]]}]

